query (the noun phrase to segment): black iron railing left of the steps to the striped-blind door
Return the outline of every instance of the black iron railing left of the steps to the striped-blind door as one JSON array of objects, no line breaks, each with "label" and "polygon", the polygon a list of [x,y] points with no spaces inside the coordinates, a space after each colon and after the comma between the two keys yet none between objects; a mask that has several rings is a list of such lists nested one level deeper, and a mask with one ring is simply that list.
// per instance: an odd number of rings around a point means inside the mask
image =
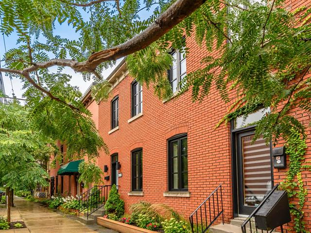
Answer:
[{"label": "black iron railing left of the steps to the striped-blind door", "polygon": [[190,215],[189,220],[192,233],[206,233],[208,228],[221,215],[224,224],[223,191],[222,184],[219,184],[207,199]]}]

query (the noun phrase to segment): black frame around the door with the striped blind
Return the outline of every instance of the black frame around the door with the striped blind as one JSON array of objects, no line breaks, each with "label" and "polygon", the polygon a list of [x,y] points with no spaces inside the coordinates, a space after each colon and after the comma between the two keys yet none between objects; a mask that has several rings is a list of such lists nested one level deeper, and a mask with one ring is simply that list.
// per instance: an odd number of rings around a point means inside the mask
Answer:
[{"label": "black frame around the door with the striped blind", "polygon": [[[232,170],[232,203],[233,217],[239,216],[239,188],[238,188],[238,157],[237,157],[237,134],[254,131],[256,125],[251,125],[239,129],[234,129],[234,120],[230,121],[231,131],[231,170]],[[272,143],[270,142],[270,151],[272,151]],[[271,156],[271,183],[274,186],[273,161]],[[241,216],[241,215],[240,215]]]}]

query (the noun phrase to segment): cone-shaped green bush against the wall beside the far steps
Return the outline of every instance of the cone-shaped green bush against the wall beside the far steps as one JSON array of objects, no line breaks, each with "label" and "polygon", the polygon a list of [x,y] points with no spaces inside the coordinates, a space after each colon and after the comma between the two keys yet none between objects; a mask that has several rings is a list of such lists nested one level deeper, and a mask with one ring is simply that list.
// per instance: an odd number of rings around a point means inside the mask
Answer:
[{"label": "cone-shaped green bush against the wall beside the far steps", "polygon": [[111,187],[109,192],[108,199],[105,204],[105,210],[107,214],[115,214],[118,218],[124,215],[124,201],[121,200],[115,184]]}]

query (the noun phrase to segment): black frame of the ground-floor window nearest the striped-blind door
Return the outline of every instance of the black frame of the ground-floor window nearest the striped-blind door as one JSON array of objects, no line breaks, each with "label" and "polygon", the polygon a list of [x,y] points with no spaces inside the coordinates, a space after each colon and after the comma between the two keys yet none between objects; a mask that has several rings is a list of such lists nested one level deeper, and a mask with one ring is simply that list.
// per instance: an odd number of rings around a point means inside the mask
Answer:
[{"label": "black frame of the ground-floor window nearest the striped-blind door", "polygon": [[[186,155],[182,155],[181,151],[181,140],[183,139],[187,139],[187,153]],[[173,183],[173,147],[172,147],[172,143],[173,142],[178,142],[179,145],[179,150],[178,150],[178,188],[174,188],[174,183]],[[187,170],[186,171],[182,171],[182,157],[186,156],[187,157]],[[188,192],[189,190],[189,179],[188,179],[188,175],[187,175],[187,186],[188,188],[182,188],[182,184],[184,183],[183,179],[182,179],[182,173],[187,172],[187,174],[189,175],[188,172],[188,134],[187,133],[180,133],[177,135],[174,135],[173,137],[168,139],[168,188],[170,192]]]}]

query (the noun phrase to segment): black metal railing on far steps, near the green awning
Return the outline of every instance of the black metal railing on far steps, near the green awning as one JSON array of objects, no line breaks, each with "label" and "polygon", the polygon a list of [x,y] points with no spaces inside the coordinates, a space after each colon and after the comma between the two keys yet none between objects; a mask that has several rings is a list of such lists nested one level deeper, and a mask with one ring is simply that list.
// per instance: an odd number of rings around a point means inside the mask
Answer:
[{"label": "black metal railing on far steps, near the green awning", "polygon": [[88,216],[103,207],[111,187],[112,185],[96,185],[82,193],[79,196],[79,216],[87,210],[85,216],[88,219]]}]

